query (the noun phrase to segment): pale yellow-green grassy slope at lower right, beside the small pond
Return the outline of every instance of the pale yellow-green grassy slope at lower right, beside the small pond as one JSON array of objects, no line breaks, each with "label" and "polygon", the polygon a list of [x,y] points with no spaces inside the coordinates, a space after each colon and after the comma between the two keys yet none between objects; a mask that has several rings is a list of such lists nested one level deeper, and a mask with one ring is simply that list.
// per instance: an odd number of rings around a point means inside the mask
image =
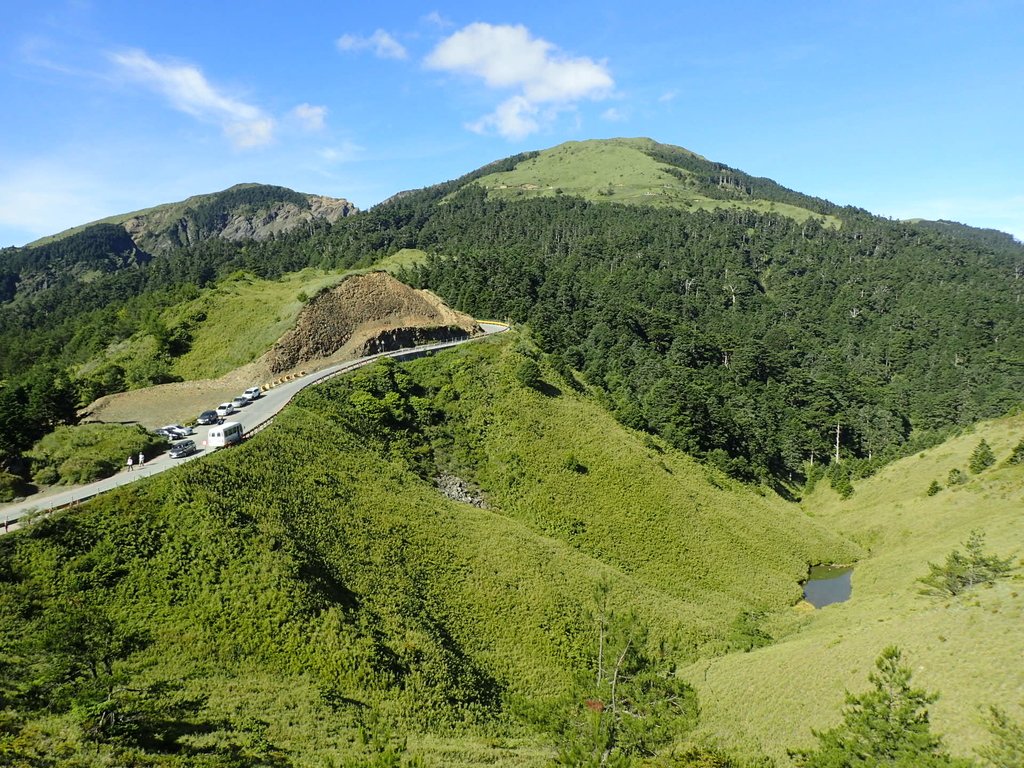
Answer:
[{"label": "pale yellow-green grassy slope at lower right, beside the small pond", "polygon": [[[795,620],[798,631],[774,647],[694,665],[688,672],[700,693],[707,722],[728,739],[784,749],[810,742],[811,728],[839,721],[843,690],[867,687],[879,652],[897,644],[914,681],[941,694],[932,708],[934,728],[954,752],[970,755],[987,740],[986,708],[1024,711],[1024,584],[1015,579],[955,599],[920,594],[928,563],[964,551],[973,529],[986,550],[1022,554],[1024,466],[968,471],[984,438],[1002,462],[1024,435],[1024,417],[978,425],[937,447],[886,467],[859,481],[841,501],[819,487],[805,507],[814,518],[869,550],[857,563],[853,597]],[[970,479],[934,496],[932,480],[947,485],[952,469]],[[737,722],[735,712],[745,716]]]}]

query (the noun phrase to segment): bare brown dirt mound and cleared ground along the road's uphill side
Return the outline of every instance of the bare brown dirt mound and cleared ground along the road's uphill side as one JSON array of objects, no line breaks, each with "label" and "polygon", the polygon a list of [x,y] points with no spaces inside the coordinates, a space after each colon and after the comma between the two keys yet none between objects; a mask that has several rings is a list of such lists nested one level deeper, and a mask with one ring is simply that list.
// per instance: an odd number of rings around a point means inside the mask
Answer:
[{"label": "bare brown dirt mound and cleared ground along the road's uphill side", "polygon": [[295,328],[262,357],[219,379],[175,382],[100,397],[84,421],[159,427],[188,423],[202,411],[247,387],[270,388],[291,373],[315,371],[371,352],[481,333],[429,291],[418,291],[387,272],[353,275],[313,297]]}]

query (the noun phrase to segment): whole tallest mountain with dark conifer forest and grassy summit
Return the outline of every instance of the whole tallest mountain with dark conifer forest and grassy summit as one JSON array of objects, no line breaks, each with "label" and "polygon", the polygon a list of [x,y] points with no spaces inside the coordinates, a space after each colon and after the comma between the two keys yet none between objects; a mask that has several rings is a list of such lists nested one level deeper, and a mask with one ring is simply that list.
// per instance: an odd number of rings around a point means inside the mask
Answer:
[{"label": "whole tallest mountain with dark conifer forest and grassy summit", "polygon": [[[668,178],[689,202],[588,186],[609,169],[635,190]],[[173,340],[187,318],[161,313],[198,286],[402,249],[431,257],[407,280],[475,316],[528,323],[624,423],[744,479],[799,482],[837,432],[841,456],[861,463],[835,471],[863,474],[1024,391],[1024,247],[1012,238],[882,219],[616,139],[508,158],[268,241],[182,245],[0,306],[0,397],[44,431],[81,404],[76,366],[143,328]],[[162,353],[173,369],[175,350]]]}]

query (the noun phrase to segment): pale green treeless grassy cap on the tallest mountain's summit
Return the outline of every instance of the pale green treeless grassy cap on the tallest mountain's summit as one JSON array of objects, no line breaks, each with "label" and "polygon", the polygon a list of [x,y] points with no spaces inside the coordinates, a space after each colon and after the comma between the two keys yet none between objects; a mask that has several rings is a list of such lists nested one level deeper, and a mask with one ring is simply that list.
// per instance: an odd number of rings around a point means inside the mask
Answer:
[{"label": "pale green treeless grassy cap on the tallest mountain's summit", "polygon": [[[573,195],[596,202],[684,210],[725,208],[775,212],[797,221],[819,216],[799,205],[756,197],[737,200],[710,197],[692,172],[680,172],[648,154],[658,146],[648,138],[569,141],[542,151],[511,171],[483,176],[475,183],[488,195],[508,200]],[[687,155],[709,168],[713,166],[698,155]],[[838,219],[831,216],[824,219],[834,226],[839,225]]]}]

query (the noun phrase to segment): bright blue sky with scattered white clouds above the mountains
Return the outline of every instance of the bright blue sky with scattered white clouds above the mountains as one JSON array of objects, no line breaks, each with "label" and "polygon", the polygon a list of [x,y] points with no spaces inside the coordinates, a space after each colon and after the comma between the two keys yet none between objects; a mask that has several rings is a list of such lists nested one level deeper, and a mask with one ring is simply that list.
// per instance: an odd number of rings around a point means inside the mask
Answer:
[{"label": "bright blue sky with scattered white clouds above the mountains", "polygon": [[242,181],[367,208],[610,136],[1024,239],[1024,0],[8,6],[0,245]]}]

